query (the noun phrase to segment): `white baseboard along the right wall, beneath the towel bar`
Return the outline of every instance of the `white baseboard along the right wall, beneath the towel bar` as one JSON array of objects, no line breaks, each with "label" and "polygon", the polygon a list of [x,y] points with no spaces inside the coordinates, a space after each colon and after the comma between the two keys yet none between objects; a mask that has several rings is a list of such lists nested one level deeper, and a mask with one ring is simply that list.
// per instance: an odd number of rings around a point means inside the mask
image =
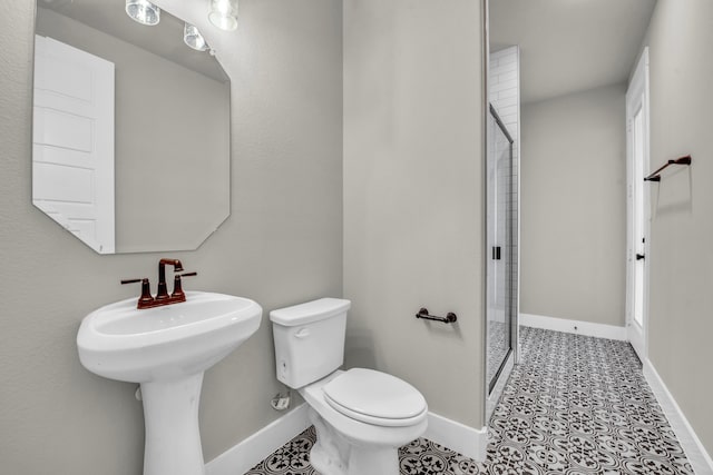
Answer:
[{"label": "white baseboard along the right wall, beneath the towel bar", "polygon": [[658,376],[658,373],[656,373],[656,369],[648,359],[645,359],[643,365],[644,377],[656,396],[658,405],[666,415],[671,428],[673,428],[673,432],[676,434],[683,452],[686,453],[693,471],[696,475],[713,474],[713,461],[711,456],[705,451],[705,447],[703,447],[701,439],[699,439],[691,424],[688,424],[686,416],[681,412],[681,407],[676,404],[676,400],[668,392],[663,379],[661,379],[661,376]]}]

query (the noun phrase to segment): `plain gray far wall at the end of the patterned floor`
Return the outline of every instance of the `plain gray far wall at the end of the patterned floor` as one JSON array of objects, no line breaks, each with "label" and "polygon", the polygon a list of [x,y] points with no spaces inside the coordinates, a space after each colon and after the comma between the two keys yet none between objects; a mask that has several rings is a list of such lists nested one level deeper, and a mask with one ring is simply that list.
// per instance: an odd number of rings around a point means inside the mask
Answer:
[{"label": "plain gray far wall at the end of the patterned floor", "polygon": [[625,85],[522,106],[524,314],[624,326]]}]

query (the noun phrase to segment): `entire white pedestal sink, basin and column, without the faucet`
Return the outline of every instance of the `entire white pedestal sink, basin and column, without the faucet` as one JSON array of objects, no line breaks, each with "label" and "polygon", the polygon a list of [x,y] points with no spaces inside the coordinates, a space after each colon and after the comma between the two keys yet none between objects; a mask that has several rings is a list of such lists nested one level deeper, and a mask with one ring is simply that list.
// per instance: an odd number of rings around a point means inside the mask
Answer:
[{"label": "entire white pedestal sink, basin and column, without the faucet", "polygon": [[261,317],[251,299],[187,291],[180,304],[138,310],[131,298],[81,321],[81,364],[99,376],[141,385],[144,475],[205,473],[198,432],[203,373],[253,335]]}]

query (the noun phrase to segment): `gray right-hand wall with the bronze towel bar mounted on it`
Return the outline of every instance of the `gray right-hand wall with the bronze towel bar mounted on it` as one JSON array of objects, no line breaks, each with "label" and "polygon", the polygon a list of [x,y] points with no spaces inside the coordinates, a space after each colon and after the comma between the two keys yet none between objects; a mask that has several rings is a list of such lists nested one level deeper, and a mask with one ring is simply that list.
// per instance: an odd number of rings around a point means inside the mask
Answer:
[{"label": "gray right-hand wall with the bronze towel bar mounted on it", "polygon": [[651,184],[648,358],[713,454],[713,2],[658,0],[648,31],[651,166],[691,167]]}]

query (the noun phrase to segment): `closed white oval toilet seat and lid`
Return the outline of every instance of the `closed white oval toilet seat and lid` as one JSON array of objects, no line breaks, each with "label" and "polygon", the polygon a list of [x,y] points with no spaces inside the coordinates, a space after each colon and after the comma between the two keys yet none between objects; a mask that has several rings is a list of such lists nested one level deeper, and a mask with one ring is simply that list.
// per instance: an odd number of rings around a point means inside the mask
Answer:
[{"label": "closed white oval toilet seat and lid", "polygon": [[413,386],[395,376],[352,368],[323,387],[324,400],[339,413],[372,425],[404,427],[421,422],[426,399]]}]

